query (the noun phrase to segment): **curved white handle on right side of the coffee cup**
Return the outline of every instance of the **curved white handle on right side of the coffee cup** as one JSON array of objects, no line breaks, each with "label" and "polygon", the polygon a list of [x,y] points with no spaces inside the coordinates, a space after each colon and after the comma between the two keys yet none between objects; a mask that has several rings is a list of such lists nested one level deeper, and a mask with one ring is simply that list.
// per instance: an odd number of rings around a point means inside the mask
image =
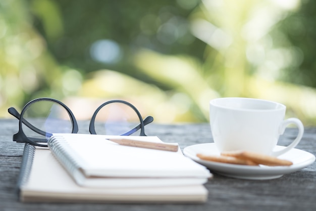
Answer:
[{"label": "curved white handle on right side of the coffee cup", "polygon": [[286,148],[284,148],[282,150],[279,150],[279,151],[273,151],[272,154],[271,154],[272,156],[276,156],[277,157],[277,156],[279,156],[281,154],[284,154],[285,152],[289,151],[290,149],[293,149],[294,147],[296,147],[296,145],[302,139],[303,133],[304,133],[304,126],[303,126],[303,123],[297,118],[288,118],[288,119],[283,120],[282,123],[280,124],[280,127],[279,127],[280,135],[282,135],[284,133],[286,127],[289,124],[295,124],[297,126],[297,128],[298,128],[298,134],[297,134],[296,139],[289,146],[287,146]]}]

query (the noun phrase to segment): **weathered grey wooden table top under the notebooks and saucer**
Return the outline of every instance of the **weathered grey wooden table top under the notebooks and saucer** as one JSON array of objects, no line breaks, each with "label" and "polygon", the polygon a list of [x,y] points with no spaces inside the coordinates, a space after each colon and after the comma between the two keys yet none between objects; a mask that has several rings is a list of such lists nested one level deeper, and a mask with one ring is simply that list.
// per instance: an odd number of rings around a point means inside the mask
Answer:
[{"label": "weathered grey wooden table top under the notebooks and saucer", "polygon": [[[85,129],[88,123],[83,123]],[[202,204],[89,204],[89,203],[21,203],[16,183],[24,144],[12,141],[18,130],[16,119],[0,119],[0,210],[316,210],[315,163],[303,170],[274,180],[242,180],[214,174],[205,187],[208,200]],[[82,126],[82,125],[81,125]],[[213,142],[207,123],[151,124],[146,134],[158,136],[166,142],[186,146]],[[87,133],[87,130],[80,131]],[[279,145],[287,145],[295,129],[288,129]],[[302,141],[296,147],[316,153],[316,128],[306,128]]]}]

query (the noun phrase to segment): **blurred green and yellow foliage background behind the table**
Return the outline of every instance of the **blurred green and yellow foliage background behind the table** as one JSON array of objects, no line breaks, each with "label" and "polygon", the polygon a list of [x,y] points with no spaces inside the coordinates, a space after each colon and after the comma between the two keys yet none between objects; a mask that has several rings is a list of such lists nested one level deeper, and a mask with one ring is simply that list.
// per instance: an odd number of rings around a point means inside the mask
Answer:
[{"label": "blurred green and yellow foliage background behind the table", "polygon": [[31,99],[77,119],[124,99],[206,122],[217,97],[278,101],[316,125],[316,2],[0,0],[0,117]]}]

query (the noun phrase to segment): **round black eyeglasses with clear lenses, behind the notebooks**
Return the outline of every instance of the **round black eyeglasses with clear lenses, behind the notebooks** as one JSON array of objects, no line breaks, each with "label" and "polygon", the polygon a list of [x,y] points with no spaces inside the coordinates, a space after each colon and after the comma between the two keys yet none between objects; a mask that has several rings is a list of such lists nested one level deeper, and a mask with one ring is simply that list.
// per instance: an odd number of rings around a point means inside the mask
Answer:
[{"label": "round black eyeglasses with clear lenses, behind the notebooks", "polygon": [[[52,134],[79,131],[72,111],[64,103],[52,98],[38,98],[28,102],[21,114],[13,107],[9,108],[8,112],[19,119],[19,131],[13,135],[13,141],[16,142],[47,147],[44,143]],[[111,100],[94,111],[89,132],[101,135],[146,136],[144,126],[152,121],[152,116],[142,119],[131,103]]]}]

